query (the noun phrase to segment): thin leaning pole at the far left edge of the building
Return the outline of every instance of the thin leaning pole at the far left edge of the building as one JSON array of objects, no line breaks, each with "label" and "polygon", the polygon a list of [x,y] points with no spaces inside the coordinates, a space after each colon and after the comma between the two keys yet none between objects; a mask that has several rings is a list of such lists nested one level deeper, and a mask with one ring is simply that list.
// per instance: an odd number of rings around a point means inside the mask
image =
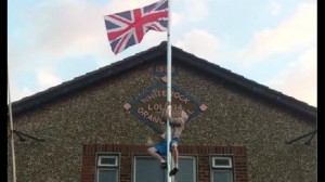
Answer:
[{"label": "thin leaning pole at the far left edge of the building", "polygon": [[10,99],[9,69],[8,69],[8,86],[6,87],[8,87],[8,101],[9,101],[10,132],[11,132],[10,134],[11,134],[11,151],[12,151],[12,172],[13,172],[13,182],[16,182],[16,161],[15,161],[12,107],[11,107],[11,99]]}]

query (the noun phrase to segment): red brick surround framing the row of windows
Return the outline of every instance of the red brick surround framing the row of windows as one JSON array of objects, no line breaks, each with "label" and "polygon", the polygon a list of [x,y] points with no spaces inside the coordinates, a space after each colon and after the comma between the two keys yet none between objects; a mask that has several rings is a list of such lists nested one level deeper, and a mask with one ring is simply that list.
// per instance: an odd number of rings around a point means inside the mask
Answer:
[{"label": "red brick surround framing the row of windows", "polygon": [[[82,154],[81,182],[94,182],[95,155],[100,152],[120,153],[120,182],[131,182],[132,155],[147,154],[145,145],[84,144]],[[179,146],[181,155],[198,156],[197,181],[210,181],[209,157],[214,154],[233,155],[236,182],[248,182],[246,148],[243,146]]]}]

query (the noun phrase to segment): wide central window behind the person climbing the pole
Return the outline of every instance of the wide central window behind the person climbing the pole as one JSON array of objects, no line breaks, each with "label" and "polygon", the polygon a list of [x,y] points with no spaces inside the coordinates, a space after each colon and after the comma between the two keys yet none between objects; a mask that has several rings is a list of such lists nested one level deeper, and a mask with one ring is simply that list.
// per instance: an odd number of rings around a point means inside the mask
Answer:
[{"label": "wide central window behind the person climbing the pole", "polygon": [[[174,182],[196,182],[196,158],[180,156],[180,171],[174,177]],[[167,170],[160,169],[159,161],[152,156],[135,156],[133,168],[134,182],[165,182]]]}]

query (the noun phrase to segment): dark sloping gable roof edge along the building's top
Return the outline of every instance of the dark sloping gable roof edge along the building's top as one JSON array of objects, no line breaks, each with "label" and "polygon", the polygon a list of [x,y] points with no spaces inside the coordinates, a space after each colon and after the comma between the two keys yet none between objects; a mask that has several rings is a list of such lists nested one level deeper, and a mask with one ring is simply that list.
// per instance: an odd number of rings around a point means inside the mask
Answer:
[{"label": "dark sloping gable roof edge along the building's top", "polygon": [[[311,121],[316,121],[317,108],[308,105],[304,102],[298,101],[291,96],[272,90],[265,86],[259,84],[240,75],[232,73],[229,69],[222,68],[206,60],[199,58],[191,53],[172,47],[172,62],[182,63],[182,65],[191,66],[200,73],[208,75],[211,78],[218,78],[243,91],[248,91],[250,94],[265,99],[268,102],[284,107],[299,116],[307,117]],[[146,51],[129,56],[125,60],[104,66],[94,72],[74,78],[73,80],[63,82],[34,95],[26,96],[20,101],[12,103],[13,115],[21,115],[27,110],[36,108],[55,99],[72,94],[78,90],[86,89],[102,80],[115,77],[119,74],[128,72],[133,67],[148,63],[152,60],[167,58],[167,43],[161,42],[157,47],[153,47]]]}]

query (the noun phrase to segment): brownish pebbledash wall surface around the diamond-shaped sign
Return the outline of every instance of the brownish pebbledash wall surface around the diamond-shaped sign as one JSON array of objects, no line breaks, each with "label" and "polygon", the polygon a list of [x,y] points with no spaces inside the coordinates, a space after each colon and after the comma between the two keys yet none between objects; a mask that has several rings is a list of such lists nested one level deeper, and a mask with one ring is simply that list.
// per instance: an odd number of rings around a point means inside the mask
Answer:
[{"label": "brownish pebbledash wall surface around the diamond-shaped sign", "polygon": [[[14,116],[14,129],[31,139],[15,140],[17,182],[94,182],[95,154],[121,154],[120,182],[132,182],[131,156],[146,155],[148,138],[157,133],[123,106],[161,82],[153,74],[156,60],[123,72],[87,89]],[[210,180],[211,154],[234,156],[236,182],[315,182],[316,136],[286,144],[315,129],[308,120],[263,99],[173,63],[172,84],[207,109],[185,126],[180,154],[197,156],[197,182]],[[42,100],[42,98],[39,98]],[[8,181],[12,181],[8,143]]]}]

